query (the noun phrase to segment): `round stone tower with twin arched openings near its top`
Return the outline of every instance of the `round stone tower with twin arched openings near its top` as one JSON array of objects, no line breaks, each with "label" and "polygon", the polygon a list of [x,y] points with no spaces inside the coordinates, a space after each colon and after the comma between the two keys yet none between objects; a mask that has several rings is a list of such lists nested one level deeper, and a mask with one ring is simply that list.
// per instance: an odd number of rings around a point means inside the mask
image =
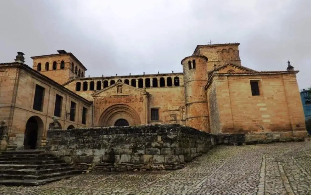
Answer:
[{"label": "round stone tower with twin arched openings near its top", "polygon": [[207,57],[191,55],[181,60],[186,107],[186,126],[209,132],[207,84]]}]

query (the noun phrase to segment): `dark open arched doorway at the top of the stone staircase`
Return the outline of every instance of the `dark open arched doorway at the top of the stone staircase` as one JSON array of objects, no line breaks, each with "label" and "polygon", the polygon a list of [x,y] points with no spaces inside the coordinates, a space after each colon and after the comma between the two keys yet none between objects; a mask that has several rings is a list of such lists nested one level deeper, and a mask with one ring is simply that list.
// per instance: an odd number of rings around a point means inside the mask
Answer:
[{"label": "dark open arched doorway at the top of the stone staircase", "polygon": [[40,117],[32,116],[26,123],[24,136],[24,149],[35,149],[37,147],[38,134],[43,133],[43,122]]}]

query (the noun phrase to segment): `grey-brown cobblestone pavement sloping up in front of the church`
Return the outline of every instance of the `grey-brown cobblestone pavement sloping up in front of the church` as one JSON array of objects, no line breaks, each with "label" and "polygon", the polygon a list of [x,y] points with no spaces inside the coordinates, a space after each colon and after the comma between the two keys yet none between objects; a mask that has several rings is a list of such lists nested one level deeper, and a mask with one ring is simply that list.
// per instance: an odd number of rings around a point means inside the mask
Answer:
[{"label": "grey-brown cobblestone pavement sloping up in front of the church", "polygon": [[83,174],[1,195],[311,194],[311,142],[218,146],[178,171]]}]

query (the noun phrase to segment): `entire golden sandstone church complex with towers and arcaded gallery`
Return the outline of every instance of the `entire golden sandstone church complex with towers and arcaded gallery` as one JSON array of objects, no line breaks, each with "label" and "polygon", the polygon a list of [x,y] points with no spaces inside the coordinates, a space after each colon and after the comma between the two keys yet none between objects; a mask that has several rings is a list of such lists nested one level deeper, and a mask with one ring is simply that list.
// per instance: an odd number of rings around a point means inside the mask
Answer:
[{"label": "entire golden sandstone church complex with towers and arcaded gallery", "polygon": [[109,77],[86,77],[86,67],[64,50],[31,57],[32,68],[23,55],[0,64],[2,149],[44,146],[55,124],[177,123],[247,139],[306,136],[299,71],[290,62],[281,71],[242,66],[239,43],[197,45],[180,73]]}]

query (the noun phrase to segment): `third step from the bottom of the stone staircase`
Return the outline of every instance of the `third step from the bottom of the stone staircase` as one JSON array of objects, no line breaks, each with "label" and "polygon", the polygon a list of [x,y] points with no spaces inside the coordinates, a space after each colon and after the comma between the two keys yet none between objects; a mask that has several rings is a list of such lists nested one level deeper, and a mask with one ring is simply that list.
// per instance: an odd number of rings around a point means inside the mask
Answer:
[{"label": "third step from the bottom of the stone staircase", "polygon": [[71,171],[74,170],[75,167],[73,166],[65,166],[53,169],[0,169],[0,173],[4,175],[41,175],[41,174],[49,174],[55,172],[62,172],[62,171]]}]

